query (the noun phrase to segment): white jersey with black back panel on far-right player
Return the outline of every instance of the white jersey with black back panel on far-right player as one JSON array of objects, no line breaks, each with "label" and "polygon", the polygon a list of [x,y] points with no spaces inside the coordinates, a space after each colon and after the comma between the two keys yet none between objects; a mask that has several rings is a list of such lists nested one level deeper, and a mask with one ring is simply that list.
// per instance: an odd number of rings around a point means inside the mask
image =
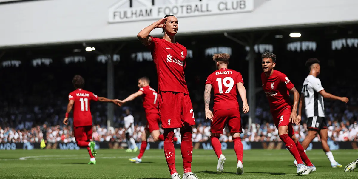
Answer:
[{"label": "white jersey with black back panel on far-right player", "polygon": [[303,82],[301,93],[305,96],[307,117],[325,117],[323,96],[319,93],[323,89],[321,80],[313,75],[309,75]]}]

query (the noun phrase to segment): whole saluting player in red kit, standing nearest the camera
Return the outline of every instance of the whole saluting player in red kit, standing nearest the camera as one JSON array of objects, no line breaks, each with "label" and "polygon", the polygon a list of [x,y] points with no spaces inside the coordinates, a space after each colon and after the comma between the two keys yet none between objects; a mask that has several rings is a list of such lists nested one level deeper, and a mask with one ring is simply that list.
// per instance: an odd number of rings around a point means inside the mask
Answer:
[{"label": "whole saluting player in red kit, standing nearest the camera", "polygon": [[[155,28],[163,29],[163,37],[149,34]],[[187,49],[175,41],[178,19],[166,15],[138,33],[138,39],[151,49],[158,74],[158,107],[164,129],[164,154],[172,179],[179,179],[175,169],[174,129],[180,128],[182,135],[183,179],[197,179],[191,172],[193,144],[192,127],[195,125],[194,111],[185,82],[184,68]]]}]

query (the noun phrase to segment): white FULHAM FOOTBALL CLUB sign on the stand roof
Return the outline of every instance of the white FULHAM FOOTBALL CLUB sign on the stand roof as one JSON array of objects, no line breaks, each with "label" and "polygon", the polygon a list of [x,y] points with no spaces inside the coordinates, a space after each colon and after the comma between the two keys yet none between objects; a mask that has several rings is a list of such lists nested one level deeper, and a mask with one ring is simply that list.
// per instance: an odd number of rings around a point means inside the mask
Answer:
[{"label": "white FULHAM FOOTBALL CLUB sign on the stand roof", "polygon": [[[119,0],[108,11],[109,23],[140,20],[159,20],[167,14],[179,17],[253,11],[254,0]],[[132,6],[135,4],[135,6]],[[158,5],[157,5],[158,4]],[[129,5],[129,8],[126,6]],[[128,6],[127,6],[128,7]]]}]

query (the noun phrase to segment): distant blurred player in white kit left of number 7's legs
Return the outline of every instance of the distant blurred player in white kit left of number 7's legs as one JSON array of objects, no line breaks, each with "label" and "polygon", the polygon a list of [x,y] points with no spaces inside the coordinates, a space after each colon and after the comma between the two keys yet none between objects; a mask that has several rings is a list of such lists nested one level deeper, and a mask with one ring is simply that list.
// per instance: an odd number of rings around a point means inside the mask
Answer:
[{"label": "distant blurred player in white kit left of number 7's legs", "polygon": [[[138,147],[135,143],[135,140],[133,139],[133,132],[134,132],[134,117],[131,115],[131,112],[129,109],[126,109],[126,116],[123,118],[124,120],[124,129],[126,130],[126,138],[127,138],[127,144],[128,149],[126,152],[136,152],[138,150]],[[134,150],[130,148],[131,144],[134,147]]]}]

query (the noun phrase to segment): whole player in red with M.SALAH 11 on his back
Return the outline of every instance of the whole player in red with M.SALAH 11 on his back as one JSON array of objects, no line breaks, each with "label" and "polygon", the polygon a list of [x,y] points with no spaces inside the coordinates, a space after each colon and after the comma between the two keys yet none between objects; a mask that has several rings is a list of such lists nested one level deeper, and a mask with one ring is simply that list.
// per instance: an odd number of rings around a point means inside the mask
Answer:
[{"label": "whole player in red with M.SALAH 11 on his back", "polygon": [[113,102],[118,105],[116,100],[109,100],[105,97],[98,97],[92,92],[86,91],[83,88],[84,79],[76,75],[72,79],[73,86],[76,88],[68,95],[68,105],[66,117],[63,120],[63,124],[67,125],[69,112],[73,108],[73,135],[76,139],[78,147],[86,148],[89,156],[91,157],[88,164],[96,164],[95,156],[97,154],[95,150],[96,143],[92,140],[92,115],[89,108],[91,100],[102,102]]}]

